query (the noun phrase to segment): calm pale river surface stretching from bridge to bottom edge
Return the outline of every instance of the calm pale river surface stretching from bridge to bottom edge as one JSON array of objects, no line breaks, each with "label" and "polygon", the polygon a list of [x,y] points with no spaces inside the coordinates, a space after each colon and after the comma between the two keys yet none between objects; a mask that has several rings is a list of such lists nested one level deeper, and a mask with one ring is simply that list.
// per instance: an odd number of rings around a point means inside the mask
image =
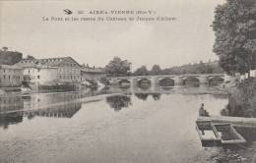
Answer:
[{"label": "calm pale river surface stretching from bridge to bottom edge", "polygon": [[106,92],[0,97],[0,162],[186,162],[203,150],[200,104],[227,104],[213,87]]}]

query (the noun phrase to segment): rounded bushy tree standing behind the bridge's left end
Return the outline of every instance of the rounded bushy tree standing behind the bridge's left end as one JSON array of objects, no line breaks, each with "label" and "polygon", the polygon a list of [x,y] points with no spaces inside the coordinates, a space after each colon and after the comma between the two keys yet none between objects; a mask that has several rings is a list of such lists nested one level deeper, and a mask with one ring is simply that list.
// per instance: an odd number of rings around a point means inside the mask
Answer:
[{"label": "rounded bushy tree standing behind the bridge's left end", "polygon": [[106,66],[105,72],[112,77],[127,76],[130,74],[131,63],[114,57]]}]

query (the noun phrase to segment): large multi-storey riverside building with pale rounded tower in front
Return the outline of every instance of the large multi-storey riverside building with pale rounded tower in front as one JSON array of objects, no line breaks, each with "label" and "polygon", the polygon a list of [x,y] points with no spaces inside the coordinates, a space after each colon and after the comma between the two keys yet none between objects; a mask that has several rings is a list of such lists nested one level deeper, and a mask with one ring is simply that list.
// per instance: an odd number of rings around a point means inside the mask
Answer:
[{"label": "large multi-storey riverside building with pale rounded tower in front", "polygon": [[24,68],[24,81],[36,84],[81,81],[81,66],[71,57],[24,59],[17,66]]}]

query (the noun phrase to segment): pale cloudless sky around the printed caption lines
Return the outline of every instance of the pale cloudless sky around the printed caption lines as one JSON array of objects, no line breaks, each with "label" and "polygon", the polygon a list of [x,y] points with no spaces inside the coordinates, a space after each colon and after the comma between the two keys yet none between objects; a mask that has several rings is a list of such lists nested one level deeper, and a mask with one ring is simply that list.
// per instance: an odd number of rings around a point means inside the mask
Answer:
[{"label": "pale cloudless sky around the printed caption lines", "polygon": [[[215,7],[224,0],[84,0],[0,1],[0,47],[35,58],[71,56],[80,64],[104,67],[114,56],[135,70],[158,64],[169,68],[217,60],[211,24]],[[69,9],[72,15],[65,15]],[[130,17],[89,15],[93,10],[155,12],[167,22],[62,22],[42,17]],[[86,14],[78,15],[78,11]],[[134,15],[132,15],[134,16]],[[137,15],[136,15],[137,16]],[[134,17],[136,17],[134,16]],[[140,15],[150,17],[151,15]]]}]

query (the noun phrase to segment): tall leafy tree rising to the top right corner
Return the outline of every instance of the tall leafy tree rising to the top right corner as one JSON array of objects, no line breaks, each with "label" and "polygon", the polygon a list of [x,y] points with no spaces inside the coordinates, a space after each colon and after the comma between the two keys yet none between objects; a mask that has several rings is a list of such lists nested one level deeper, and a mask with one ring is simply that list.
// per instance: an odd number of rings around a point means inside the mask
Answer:
[{"label": "tall leafy tree rising to the top right corner", "polygon": [[215,13],[214,52],[220,66],[230,75],[248,73],[256,55],[256,1],[226,0]]}]

